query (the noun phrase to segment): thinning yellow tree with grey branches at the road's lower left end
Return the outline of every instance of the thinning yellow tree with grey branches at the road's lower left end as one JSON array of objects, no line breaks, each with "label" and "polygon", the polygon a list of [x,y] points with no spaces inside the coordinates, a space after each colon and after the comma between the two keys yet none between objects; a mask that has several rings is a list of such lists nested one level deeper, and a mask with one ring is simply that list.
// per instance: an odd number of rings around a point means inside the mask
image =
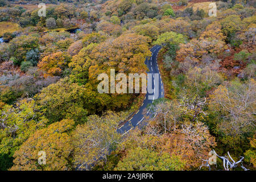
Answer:
[{"label": "thinning yellow tree with grey branches at the road's lower left end", "polygon": [[90,115],[88,122],[77,126],[73,133],[73,163],[80,169],[89,169],[92,164],[106,162],[109,150],[121,140],[117,132],[121,119],[121,115],[108,111],[102,117]]}]

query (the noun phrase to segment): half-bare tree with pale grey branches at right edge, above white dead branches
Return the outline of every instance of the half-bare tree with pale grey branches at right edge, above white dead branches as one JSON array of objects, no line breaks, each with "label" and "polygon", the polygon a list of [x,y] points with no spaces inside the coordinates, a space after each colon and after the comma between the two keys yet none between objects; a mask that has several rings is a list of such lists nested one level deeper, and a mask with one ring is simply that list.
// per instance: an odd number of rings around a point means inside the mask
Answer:
[{"label": "half-bare tree with pale grey branches at right edge, above white dead branches", "polygon": [[255,133],[255,86],[253,78],[245,83],[234,80],[218,86],[210,95],[209,109],[220,139],[227,147],[241,152],[247,137]]}]

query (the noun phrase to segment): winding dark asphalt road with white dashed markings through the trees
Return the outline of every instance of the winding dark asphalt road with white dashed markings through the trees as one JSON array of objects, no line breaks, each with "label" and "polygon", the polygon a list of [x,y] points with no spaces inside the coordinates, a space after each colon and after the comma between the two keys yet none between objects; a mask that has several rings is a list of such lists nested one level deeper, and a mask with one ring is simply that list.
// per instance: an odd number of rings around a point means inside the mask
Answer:
[{"label": "winding dark asphalt road with white dashed markings through the trees", "polygon": [[[152,77],[152,89],[154,89],[154,93],[148,93],[146,94],[146,97],[144,98],[143,104],[141,105],[141,107],[139,107],[139,110],[137,111],[137,113],[135,115],[133,115],[132,118],[130,118],[129,121],[127,121],[125,124],[119,126],[118,128],[118,133],[122,133],[123,135],[127,134],[130,130],[134,129],[134,127],[136,126],[141,126],[142,125],[142,121],[144,119],[144,115],[143,115],[143,111],[144,109],[147,109],[147,105],[148,104],[152,104],[152,102],[154,102],[155,98],[154,95],[158,95],[158,98],[162,98],[164,97],[164,88],[163,88],[163,82],[162,82],[162,78],[160,76],[160,72],[158,69],[158,63],[157,63],[157,56],[158,56],[158,52],[160,51],[161,46],[154,46],[150,49],[151,51],[151,57],[147,58],[145,60],[145,64],[147,65],[148,69],[150,71],[148,71],[147,73],[158,73],[159,77],[158,77],[158,86],[159,86],[159,93],[155,94],[155,92],[157,92],[157,89],[155,89],[155,82],[156,82],[156,76]],[[153,74],[153,75],[154,75]],[[156,84],[157,85],[157,84]],[[150,96],[151,99],[148,97]],[[149,114],[148,112],[149,109],[147,109],[147,114]],[[152,115],[151,117],[155,117],[155,115]]]}]

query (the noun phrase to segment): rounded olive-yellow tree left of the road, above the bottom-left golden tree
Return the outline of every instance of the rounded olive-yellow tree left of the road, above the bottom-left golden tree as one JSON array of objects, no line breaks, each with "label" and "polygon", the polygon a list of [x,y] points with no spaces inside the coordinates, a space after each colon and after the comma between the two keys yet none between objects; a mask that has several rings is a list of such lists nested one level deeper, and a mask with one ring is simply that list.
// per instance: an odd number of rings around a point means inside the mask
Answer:
[{"label": "rounded olive-yellow tree left of the road, above the bottom-left golden tree", "polygon": [[71,84],[64,78],[44,88],[35,98],[37,104],[46,109],[46,117],[51,122],[68,118],[85,122],[88,113],[85,109],[86,93],[88,92],[84,86]]}]

